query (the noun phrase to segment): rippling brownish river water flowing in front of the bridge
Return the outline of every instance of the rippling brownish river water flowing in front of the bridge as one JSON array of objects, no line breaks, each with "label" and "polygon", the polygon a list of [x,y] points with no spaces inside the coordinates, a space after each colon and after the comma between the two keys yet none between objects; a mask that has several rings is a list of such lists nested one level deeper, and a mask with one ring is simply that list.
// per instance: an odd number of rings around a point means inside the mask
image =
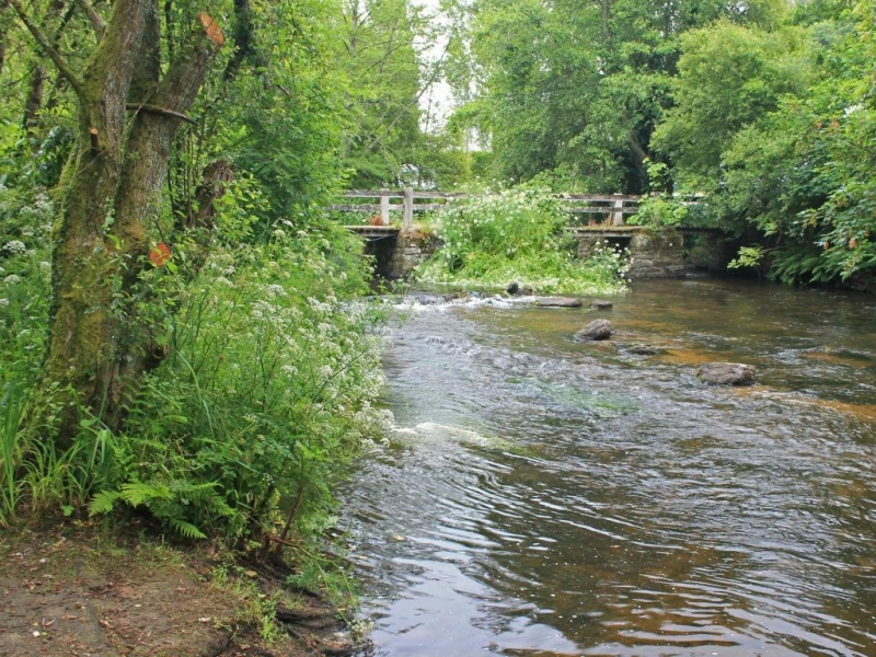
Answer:
[{"label": "rippling brownish river water flowing in front of the bridge", "polygon": [[[434,300],[343,496],[373,655],[876,656],[876,299]],[[612,339],[574,342],[595,318]],[[698,382],[718,360],[757,384]]]}]

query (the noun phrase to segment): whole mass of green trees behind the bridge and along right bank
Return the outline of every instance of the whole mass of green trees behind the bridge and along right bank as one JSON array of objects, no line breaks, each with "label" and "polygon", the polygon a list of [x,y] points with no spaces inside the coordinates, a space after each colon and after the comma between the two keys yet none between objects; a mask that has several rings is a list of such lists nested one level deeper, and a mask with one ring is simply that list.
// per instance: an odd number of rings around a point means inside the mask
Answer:
[{"label": "whole mass of green trees behind the bridge and along right bank", "polygon": [[712,221],[751,241],[745,262],[782,280],[876,267],[872,3],[456,7],[451,123],[480,132],[489,176],[707,192]]}]

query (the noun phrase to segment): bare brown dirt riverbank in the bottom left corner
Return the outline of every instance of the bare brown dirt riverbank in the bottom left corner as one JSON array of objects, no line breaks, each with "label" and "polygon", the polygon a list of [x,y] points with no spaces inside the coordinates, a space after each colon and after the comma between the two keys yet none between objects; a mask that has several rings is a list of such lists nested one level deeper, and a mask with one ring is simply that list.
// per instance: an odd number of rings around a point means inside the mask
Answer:
[{"label": "bare brown dirt riverbank in the bottom left corner", "polygon": [[0,538],[0,656],[304,657],[351,654],[322,597],[285,566],[151,527],[61,522]]}]

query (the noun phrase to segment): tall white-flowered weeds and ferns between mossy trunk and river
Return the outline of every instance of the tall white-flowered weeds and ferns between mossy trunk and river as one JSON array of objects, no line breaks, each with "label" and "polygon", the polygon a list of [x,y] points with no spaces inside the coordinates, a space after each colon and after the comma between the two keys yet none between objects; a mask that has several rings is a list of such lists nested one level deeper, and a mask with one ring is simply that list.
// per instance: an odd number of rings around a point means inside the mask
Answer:
[{"label": "tall white-flowered weeds and ferns between mossy trunk and river", "polygon": [[276,228],[270,242],[214,252],[187,286],[169,357],[117,440],[92,512],[143,506],[191,538],[304,527],[379,431],[381,314],[353,235]]}]

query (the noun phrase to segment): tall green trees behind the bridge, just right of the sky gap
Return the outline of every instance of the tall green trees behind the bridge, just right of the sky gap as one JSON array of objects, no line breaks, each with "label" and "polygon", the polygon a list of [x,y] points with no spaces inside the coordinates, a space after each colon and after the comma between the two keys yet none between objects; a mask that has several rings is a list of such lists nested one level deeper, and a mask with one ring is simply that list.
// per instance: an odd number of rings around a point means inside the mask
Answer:
[{"label": "tall green trees behind the bridge, just right of the sky gap", "polygon": [[[688,31],[718,19],[772,28],[786,11],[783,0],[465,7],[470,27],[461,38],[471,49],[451,53],[458,58],[452,82],[465,101],[456,118],[492,149],[487,173],[520,182],[565,169],[574,172],[574,188],[602,193],[645,188],[650,137],[671,106]],[[463,58],[469,76],[459,72]]]}]

